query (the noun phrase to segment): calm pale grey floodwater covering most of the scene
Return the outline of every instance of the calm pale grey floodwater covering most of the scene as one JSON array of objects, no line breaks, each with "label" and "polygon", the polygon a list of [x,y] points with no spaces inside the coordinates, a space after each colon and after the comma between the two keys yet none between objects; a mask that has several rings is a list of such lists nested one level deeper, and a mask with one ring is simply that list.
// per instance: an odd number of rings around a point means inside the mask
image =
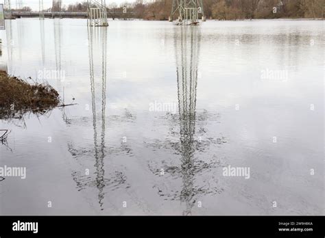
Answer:
[{"label": "calm pale grey floodwater covering most of the scene", "polygon": [[323,21],[5,23],[76,105],[0,120],[1,215],[324,215]]}]

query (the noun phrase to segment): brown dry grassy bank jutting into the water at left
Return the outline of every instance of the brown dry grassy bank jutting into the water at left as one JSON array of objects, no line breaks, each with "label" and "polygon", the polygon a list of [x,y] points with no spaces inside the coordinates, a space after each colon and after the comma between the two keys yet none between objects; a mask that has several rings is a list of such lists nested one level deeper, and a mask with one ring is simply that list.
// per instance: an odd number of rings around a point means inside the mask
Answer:
[{"label": "brown dry grassy bank jutting into the water at left", "polygon": [[58,106],[58,92],[47,83],[30,84],[0,71],[0,119],[21,118],[23,114],[45,114]]}]

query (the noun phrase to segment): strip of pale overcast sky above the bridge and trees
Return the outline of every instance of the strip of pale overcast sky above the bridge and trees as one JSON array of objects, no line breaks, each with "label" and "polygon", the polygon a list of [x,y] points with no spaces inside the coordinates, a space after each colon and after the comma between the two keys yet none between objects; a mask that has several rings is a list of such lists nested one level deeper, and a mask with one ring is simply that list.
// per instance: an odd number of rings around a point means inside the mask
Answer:
[{"label": "strip of pale overcast sky above the bridge and trees", "polygon": [[[11,5],[12,8],[16,8],[16,1],[18,2],[18,0],[11,0]],[[33,10],[38,10],[38,1],[39,0],[21,0],[23,1],[23,6],[25,5],[29,5],[29,7],[31,7]],[[43,0],[44,3],[44,9],[47,8],[51,8],[52,5],[52,1],[53,0]],[[77,2],[83,2],[86,0],[62,0],[62,5],[69,5],[70,3],[77,3]],[[97,0],[97,1],[101,1],[101,0]],[[135,0],[126,0],[128,2],[134,2]],[[0,0],[0,3],[3,3],[4,0]],[[110,3],[125,3],[125,0],[106,0],[106,5],[109,5]]]}]

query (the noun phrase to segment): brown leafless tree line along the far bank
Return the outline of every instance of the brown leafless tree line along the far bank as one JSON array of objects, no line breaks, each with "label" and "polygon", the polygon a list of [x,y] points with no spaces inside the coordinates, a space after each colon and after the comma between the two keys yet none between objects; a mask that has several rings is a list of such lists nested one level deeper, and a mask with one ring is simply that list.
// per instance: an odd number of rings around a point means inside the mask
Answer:
[{"label": "brown leafless tree line along the far bank", "polygon": [[[168,20],[173,0],[110,3],[108,12],[126,12],[125,17]],[[325,0],[203,0],[207,19],[237,20],[254,18],[324,18]],[[25,7],[26,8],[26,7]],[[58,8],[58,6],[56,6]],[[29,9],[29,8],[27,8]],[[51,8],[49,9],[51,10]],[[60,9],[54,9],[57,12]],[[86,1],[63,5],[61,11],[86,12]],[[131,14],[132,13],[132,14]],[[177,18],[178,15],[174,16]]]}]

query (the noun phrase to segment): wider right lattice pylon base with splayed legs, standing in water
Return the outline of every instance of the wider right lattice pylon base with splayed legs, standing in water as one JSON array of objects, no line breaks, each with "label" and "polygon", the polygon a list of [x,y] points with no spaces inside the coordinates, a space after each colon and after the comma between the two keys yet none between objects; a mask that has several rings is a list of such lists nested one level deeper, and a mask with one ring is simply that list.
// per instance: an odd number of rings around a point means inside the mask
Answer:
[{"label": "wider right lattice pylon base with splayed legs, standing in water", "polygon": [[202,21],[206,21],[202,0],[173,0],[169,21],[173,21],[173,16],[177,12],[177,25],[198,25],[199,14],[202,14]]}]

